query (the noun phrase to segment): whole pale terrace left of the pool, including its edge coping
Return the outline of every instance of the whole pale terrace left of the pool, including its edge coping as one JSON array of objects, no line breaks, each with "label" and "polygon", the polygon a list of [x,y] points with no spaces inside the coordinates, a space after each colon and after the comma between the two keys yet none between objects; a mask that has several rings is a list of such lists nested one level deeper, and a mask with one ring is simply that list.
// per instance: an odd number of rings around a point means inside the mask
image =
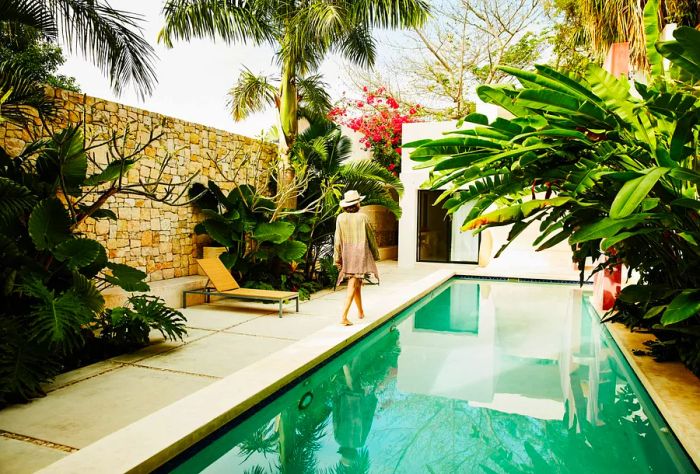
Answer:
[{"label": "whole pale terrace left of the pool, including its edge coping", "polygon": [[[268,305],[218,302],[188,308],[186,343],[153,344],[64,374],[47,388],[47,397],[0,411],[0,466],[7,472],[35,472],[65,458],[45,472],[147,472],[206,434],[205,420],[209,432],[212,420],[226,423],[456,270],[436,272],[439,268],[382,263],[382,285],[363,292],[368,319],[350,328],[337,324],[344,288],[314,295],[299,314],[286,312],[281,320]],[[504,276],[475,267],[460,270]],[[575,278],[574,273],[508,273]],[[207,395],[211,398],[203,404]],[[168,416],[174,410],[176,420]]]}]

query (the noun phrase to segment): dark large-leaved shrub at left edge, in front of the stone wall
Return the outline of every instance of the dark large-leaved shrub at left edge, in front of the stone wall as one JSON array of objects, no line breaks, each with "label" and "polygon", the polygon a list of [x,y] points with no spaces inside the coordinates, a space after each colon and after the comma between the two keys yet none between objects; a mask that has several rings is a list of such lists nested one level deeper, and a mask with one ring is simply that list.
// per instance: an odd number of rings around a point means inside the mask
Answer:
[{"label": "dark large-leaved shrub at left edge, in front of the stone wall", "polygon": [[[110,262],[80,231],[88,219],[116,219],[103,208],[116,194],[170,202],[175,185],[122,179],[146,146],[126,152],[117,145],[124,141],[115,133],[88,148],[76,125],[16,157],[0,148],[0,403],[40,395],[41,383],[95,354],[147,343],[149,328],[171,339],[185,334],[182,314],[153,297],[105,309],[100,290],[148,291],[146,274]],[[92,154],[100,146],[109,148],[107,162]]]}]

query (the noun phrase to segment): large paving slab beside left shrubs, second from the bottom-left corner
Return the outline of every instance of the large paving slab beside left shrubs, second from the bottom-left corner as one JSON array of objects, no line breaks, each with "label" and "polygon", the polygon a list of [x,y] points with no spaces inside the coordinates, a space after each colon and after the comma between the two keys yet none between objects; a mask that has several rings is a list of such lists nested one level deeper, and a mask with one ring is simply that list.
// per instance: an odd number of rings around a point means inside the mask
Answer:
[{"label": "large paving slab beside left shrubs, second from the bottom-left corner", "polygon": [[122,367],[0,411],[0,430],[82,448],[214,379]]}]

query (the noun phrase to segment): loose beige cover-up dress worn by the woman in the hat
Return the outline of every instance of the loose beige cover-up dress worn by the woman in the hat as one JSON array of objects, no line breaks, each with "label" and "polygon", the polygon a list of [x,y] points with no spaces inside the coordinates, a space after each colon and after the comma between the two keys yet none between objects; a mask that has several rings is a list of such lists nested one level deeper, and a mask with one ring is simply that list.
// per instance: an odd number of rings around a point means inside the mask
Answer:
[{"label": "loose beige cover-up dress worn by the woman in the hat", "polygon": [[344,278],[363,278],[366,273],[379,278],[375,260],[379,260],[379,249],[369,218],[359,212],[340,214],[333,245],[333,261],[340,268],[338,283]]}]

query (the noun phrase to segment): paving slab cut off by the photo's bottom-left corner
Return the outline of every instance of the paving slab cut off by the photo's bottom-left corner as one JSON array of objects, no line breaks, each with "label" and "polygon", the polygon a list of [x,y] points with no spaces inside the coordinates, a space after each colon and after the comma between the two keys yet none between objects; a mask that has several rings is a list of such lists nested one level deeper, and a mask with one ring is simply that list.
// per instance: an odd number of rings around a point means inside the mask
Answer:
[{"label": "paving slab cut off by the photo's bottom-left corner", "polygon": [[58,449],[0,436],[0,472],[29,474],[68,454]]}]

